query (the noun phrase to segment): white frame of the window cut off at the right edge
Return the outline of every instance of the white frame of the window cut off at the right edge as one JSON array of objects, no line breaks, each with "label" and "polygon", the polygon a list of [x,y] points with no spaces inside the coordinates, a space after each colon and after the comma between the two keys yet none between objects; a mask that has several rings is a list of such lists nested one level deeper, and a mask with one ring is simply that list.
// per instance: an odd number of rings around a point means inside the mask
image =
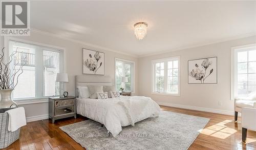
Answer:
[{"label": "white frame of the window cut off at the right edge", "polygon": [[[231,48],[231,77],[230,77],[230,100],[234,100],[236,98],[239,98],[241,96],[235,95],[238,85],[238,52],[248,51],[248,49],[256,49],[256,44],[250,44],[250,45],[244,45],[244,46],[238,46],[238,47],[232,47]],[[247,58],[248,59],[248,58]],[[248,75],[248,60],[247,62],[247,75]],[[240,62],[241,63],[241,62]],[[247,82],[248,82],[248,76],[247,76]],[[247,85],[248,86],[248,85]],[[243,97],[243,96],[242,96]]]}]

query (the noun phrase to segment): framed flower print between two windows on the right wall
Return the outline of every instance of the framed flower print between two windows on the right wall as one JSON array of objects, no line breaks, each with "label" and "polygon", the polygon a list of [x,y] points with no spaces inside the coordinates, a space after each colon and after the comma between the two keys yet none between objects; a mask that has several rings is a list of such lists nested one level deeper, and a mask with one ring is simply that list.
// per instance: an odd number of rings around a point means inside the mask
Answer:
[{"label": "framed flower print between two windows on the right wall", "polygon": [[189,84],[217,84],[217,57],[188,60]]}]

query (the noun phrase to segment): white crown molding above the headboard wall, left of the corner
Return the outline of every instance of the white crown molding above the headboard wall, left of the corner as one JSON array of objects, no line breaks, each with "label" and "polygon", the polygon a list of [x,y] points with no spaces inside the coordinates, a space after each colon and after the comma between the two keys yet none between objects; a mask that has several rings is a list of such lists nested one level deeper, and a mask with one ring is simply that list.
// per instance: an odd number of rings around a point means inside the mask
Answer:
[{"label": "white crown molding above the headboard wall, left of the corner", "polygon": [[67,40],[67,41],[74,42],[76,44],[83,45],[85,47],[92,47],[92,48],[96,48],[96,49],[100,49],[100,50],[110,51],[110,52],[130,56],[130,57],[138,58],[138,55],[127,54],[127,53],[120,52],[120,51],[117,51],[117,50],[112,50],[112,49],[109,49],[109,48],[105,48],[105,47],[102,47],[102,46],[99,46],[99,45],[93,45],[93,44],[90,44],[88,42],[84,42],[84,41],[81,41],[81,40],[76,40],[76,39],[72,39],[72,38],[69,38],[69,37],[63,37],[63,36],[61,36],[59,34],[55,34],[55,33],[50,33],[50,32],[46,32],[46,31],[34,29],[34,28],[30,28],[30,29],[31,29],[31,32],[33,32],[33,33],[38,33],[38,34],[41,34],[41,35],[46,35],[46,36],[51,36],[51,37],[57,37],[57,38],[60,38],[60,39],[64,39],[64,40]]}]

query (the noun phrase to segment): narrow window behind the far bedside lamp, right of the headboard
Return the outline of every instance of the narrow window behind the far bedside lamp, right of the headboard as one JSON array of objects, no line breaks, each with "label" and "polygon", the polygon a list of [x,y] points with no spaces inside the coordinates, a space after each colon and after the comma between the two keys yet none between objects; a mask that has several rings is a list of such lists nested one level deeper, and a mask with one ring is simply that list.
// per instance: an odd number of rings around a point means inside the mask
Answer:
[{"label": "narrow window behind the far bedside lamp, right of the headboard", "polygon": [[[124,88],[126,92],[134,92],[134,63],[133,61],[115,59],[115,85],[116,90]],[[122,82],[122,77],[127,77],[128,82]]]}]

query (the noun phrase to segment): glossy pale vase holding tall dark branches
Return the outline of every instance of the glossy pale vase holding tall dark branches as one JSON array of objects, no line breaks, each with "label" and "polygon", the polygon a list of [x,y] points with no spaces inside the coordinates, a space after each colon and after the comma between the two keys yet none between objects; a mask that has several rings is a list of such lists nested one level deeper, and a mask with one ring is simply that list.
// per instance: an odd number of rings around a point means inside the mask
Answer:
[{"label": "glossy pale vase holding tall dark branches", "polygon": [[17,106],[17,103],[12,100],[12,91],[13,89],[0,90],[0,109],[15,108]]}]

